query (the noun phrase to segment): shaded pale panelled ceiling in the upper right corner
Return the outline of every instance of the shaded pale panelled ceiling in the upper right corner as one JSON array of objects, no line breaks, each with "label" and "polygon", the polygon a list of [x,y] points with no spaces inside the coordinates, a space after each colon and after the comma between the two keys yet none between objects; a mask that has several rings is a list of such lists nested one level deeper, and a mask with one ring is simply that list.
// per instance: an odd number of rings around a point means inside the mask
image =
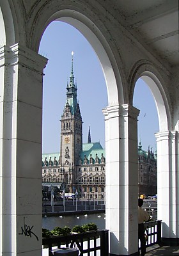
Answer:
[{"label": "shaded pale panelled ceiling in the upper right corner", "polygon": [[179,64],[178,0],[98,0],[141,44]]}]

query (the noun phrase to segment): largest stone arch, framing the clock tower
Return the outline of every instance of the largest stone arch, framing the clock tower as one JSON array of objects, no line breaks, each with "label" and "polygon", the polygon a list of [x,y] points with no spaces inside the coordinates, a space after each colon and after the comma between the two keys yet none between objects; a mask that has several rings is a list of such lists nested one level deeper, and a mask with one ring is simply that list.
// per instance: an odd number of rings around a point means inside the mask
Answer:
[{"label": "largest stone arch, framing the clock tower", "polygon": [[[65,6],[65,9],[57,11],[61,6],[54,4],[52,6],[54,12],[51,10],[51,13],[45,10],[45,8],[47,8],[47,6],[43,6],[41,10],[43,14],[40,15],[38,13],[38,17],[35,20],[36,24],[33,24],[31,38],[36,38],[36,40],[31,40],[29,47],[34,51],[38,51],[43,32],[54,20],[66,22],[74,26],[74,28],[78,29],[82,35],[84,35],[98,56],[98,60],[104,72],[109,106],[116,106],[127,102],[128,93],[125,92],[125,86],[122,84],[116,59],[111,51],[111,47],[105,39],[106,36],[98,29],[97,25],[86,15],[83,15],[82,11],[77,12],[75,8],[72,10],[72,6],[70,6],[70,10]],[[44,20],[44,17],[46,17],[46,20]]]}]

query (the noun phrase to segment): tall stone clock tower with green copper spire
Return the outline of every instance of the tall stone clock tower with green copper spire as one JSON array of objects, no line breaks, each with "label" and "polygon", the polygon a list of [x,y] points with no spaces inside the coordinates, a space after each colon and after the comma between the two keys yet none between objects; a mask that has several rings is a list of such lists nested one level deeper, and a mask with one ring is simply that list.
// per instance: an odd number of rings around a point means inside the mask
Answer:
[{"label": "tall stone clock tower with green copper spire", "polygon": [[74,83],[73,55],[74,52],[72,52],[70,83],[66,86],[66,104],[61,115],[60,144],[61,170],[67,179],[65,182],[71,185],[76,182],[75,166],[78,165],[79,153],[82,151],[82,117],[77,102],[77,84]]}]

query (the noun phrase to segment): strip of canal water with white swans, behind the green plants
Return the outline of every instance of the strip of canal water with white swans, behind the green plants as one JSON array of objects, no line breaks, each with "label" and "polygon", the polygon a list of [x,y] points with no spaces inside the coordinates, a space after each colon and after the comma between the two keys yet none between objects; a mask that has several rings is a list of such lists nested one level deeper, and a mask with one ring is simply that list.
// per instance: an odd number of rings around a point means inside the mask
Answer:
[{"label": "strip of canal water with white swans, behind the green plants", "polygon": [[95,223],[99,230],[105,229],[105,213],[74,214],[69,216],[50,216],[42,218],[42,227],[52,230],[55,227],[69,227],[84,225],[89,222]]}]

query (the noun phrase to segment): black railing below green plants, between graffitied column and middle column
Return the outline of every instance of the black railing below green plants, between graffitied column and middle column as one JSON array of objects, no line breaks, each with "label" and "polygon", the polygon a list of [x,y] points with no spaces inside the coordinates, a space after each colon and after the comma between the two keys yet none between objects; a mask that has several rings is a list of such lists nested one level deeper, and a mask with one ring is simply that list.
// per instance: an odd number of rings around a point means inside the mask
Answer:
[{"label": "black railing below green plants, between graffitied column and middle column", "polygon": [[83,256],[84,253],[91,255],[91,252],[94,252],[93,255],[96,256],[97,251],[100,252],[101,256],[109,255],[108,230],[94,230],[68,236],[43,237],[42,244],[43,248],[49,248],[49,252],[52,247],[58,246],[58,248],[77,248],[80,252],[79,256]]}]

